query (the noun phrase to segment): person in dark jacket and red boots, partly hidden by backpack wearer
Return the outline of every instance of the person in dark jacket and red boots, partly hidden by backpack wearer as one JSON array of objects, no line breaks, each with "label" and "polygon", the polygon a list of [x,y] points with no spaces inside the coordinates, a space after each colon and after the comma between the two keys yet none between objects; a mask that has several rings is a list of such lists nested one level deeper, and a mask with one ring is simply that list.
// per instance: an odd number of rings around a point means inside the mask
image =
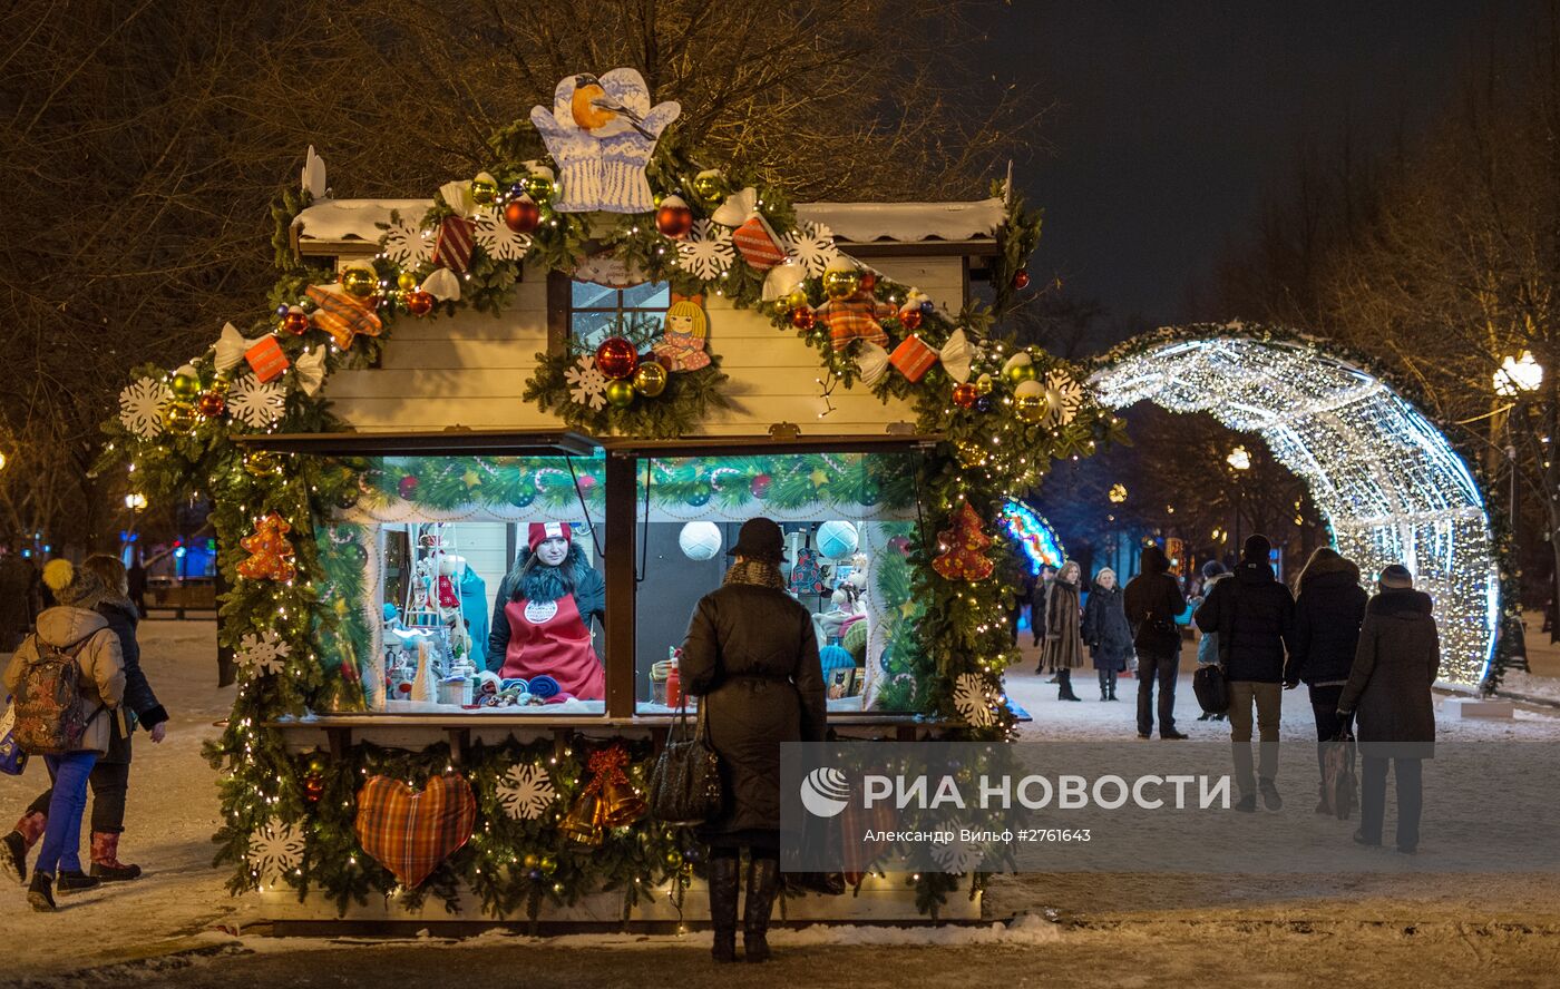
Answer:
[{"label": "person in dark jacket and red boots, partly hidden by backpack wearer", "polygon": [[[125,702],[112,714],[108,752],[87,777],[92,785],[92,875],[105,883],[115,883],[140,877],[140,866],[119,861],[119,836],[125,833],[125,797],[129,791],[129,736],[139,724],[151,735],[151,741],[161,743],[167,733],[168,713],[158,704],[158,696],[140,669],[140,643],[136,641],[140,610],[129,599],[125,565],[117,557],[95,554],[81,568],[94,572],[108,588],[105,599],[97,604],[97,613],[119,636],[119,649],[125,658]],[[27,855],[44,833],[53,796],[53,788],[39,794],[16,827],[0,838],[0,863],[23,881]]]}]

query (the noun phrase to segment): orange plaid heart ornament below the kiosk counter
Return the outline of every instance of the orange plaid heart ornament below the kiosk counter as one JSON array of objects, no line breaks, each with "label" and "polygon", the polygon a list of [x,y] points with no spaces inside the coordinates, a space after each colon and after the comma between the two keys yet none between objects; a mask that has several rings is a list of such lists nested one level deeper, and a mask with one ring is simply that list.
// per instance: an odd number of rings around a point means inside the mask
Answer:
[{"label": "orange plaid heart ornament below the kiosk counter", "polygon": [[401,780],[370,777],[357,791],[353,830],[363,852],[415,889],[471,841],[477,799],[459,774],[431,777],[423,792]]}]

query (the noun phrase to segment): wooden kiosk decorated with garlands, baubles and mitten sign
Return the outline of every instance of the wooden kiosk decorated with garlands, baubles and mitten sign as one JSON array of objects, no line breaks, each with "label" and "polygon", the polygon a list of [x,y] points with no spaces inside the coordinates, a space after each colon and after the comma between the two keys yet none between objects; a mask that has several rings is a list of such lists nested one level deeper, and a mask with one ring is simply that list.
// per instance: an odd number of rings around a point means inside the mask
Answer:
[{"label": "wooden kiosk decorated with garlands, baubles and mitten sign", "polygon": [[[214,505],[217,855],[276,922],[707,916],[643,791],[755,515],[833,732],[1014,724],[1002,509],[1117,426],[994,328],[1037,218],[1011,189],[791,203],[697,161],[636,72],[599,78],[604,112],[580,78],[532,112],[546,156],[516,128],[432,200],[331,198],[310,150],[270,300],[137,371],[111,424],[139,488]],[[785,914],[980,914],[978,875],[850,878]]]}]

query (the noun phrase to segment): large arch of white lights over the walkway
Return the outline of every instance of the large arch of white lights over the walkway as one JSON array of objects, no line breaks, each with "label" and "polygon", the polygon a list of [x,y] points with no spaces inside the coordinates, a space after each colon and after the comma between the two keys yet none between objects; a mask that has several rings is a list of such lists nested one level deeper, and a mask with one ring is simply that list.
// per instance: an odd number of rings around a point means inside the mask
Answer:
[{"label": "large arch of white lights over the walkway", "polygon": [[[1189,328],[1195,331],[1197,328]],[[1314,343],[1231,335],[1123,348],[1089,384],[1111,409],[1150,401],[1260,435],[1310,488],[1343,555],[1388,563],[1435,599],[1441,675],[1479,683],[1494,654],[1499,569],[1484,496],[1446,437],[1373,374]]]}]

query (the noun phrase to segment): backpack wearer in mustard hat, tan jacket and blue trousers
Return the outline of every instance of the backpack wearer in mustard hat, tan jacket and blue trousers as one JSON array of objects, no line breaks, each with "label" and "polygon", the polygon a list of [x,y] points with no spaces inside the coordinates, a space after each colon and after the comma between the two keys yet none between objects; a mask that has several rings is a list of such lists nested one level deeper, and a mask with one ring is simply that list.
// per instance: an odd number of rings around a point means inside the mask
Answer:
[{"label": "backpack wearer in mustard hat, tan jacket and blue trousers", "polygon": [[56,607],[37,616],[5,671],[14,699],[16,739],[42,755],[55,789],[44,845],[27,899],[37,911],[55,909],[55,894],[94,889],[100,880],[81,870],[81,816],[87,778],[108,752],[115,708],[125,697],[125,658],[119,636],[97,613],[108,588],[92,571],[51,560],[44,583]]}]

